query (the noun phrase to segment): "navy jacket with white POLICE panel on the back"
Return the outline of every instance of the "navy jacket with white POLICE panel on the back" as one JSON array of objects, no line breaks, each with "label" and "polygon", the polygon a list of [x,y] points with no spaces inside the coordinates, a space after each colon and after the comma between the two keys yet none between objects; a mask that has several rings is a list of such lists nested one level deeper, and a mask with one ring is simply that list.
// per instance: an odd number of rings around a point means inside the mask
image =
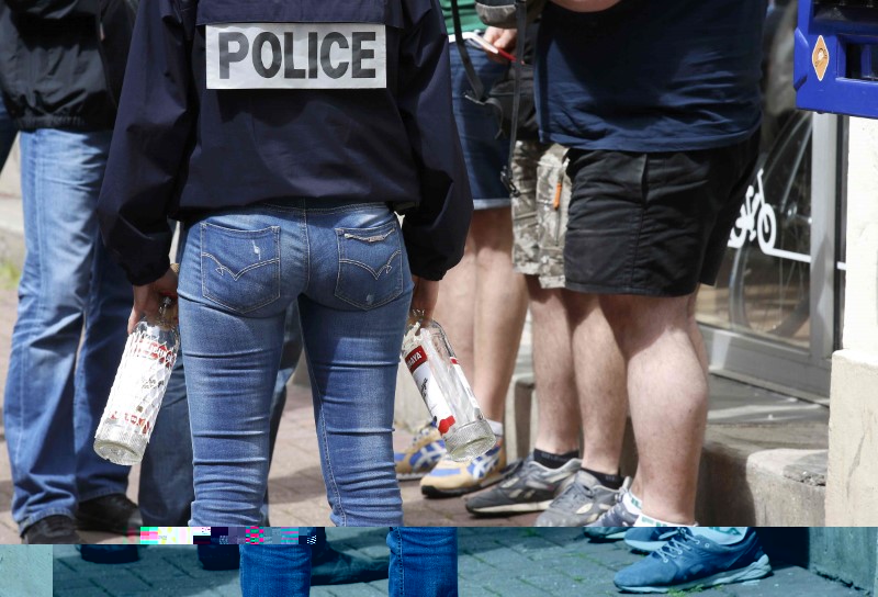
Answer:
[{"label": "navy jacket with white POLICE panel on the back", "polygon": [[386,202],[412,273],[463,254],[472,199],[436,0],[140,2],[99,200],[128,280],[169,267],[168,217],[288,199]]}]

